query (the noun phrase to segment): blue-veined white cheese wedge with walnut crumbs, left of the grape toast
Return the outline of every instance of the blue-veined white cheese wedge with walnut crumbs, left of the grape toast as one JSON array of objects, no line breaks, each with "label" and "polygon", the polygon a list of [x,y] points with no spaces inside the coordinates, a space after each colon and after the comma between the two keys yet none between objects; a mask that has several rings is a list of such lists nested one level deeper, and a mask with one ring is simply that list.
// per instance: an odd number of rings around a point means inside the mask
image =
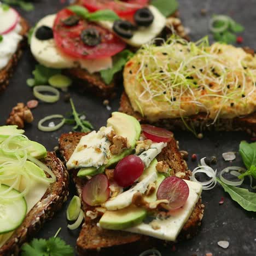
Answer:
[{"label": "blue-veined white cheese wedge with walnut crumbs, left of the grape toast", "polygon": [[113,131],[112,126],[101,127],[83,136],[67,162],[67,168],[100,167],[109,156],[110,142],[106,135]]}]

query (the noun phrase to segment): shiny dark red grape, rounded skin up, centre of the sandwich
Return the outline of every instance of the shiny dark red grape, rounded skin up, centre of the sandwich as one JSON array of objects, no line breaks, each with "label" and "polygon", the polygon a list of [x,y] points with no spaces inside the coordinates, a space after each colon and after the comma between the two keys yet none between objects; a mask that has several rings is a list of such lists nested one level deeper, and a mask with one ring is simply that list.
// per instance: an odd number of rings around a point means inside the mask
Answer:
[{"label": "shiny dark red grape, rounded skin up, centre of the sandwich", "polygon": [[143,161],[137,155],[128,155],[115,167],[114,180],[121,187],[132,185],[144,170]]}]

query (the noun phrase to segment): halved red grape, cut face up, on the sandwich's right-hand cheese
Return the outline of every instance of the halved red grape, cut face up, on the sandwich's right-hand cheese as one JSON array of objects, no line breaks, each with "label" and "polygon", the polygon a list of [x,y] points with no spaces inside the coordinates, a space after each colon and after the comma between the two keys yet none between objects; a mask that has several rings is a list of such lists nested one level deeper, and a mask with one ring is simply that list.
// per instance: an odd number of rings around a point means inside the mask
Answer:
[{"label": "halved red grape, cut face up, on the sandwich's right-hand cheese", "polygon": [[168,177],[162,181],[158,188],[159,200],[167,199],[172,210],[182,207],[189,196],[188,184],[175,176]]}]

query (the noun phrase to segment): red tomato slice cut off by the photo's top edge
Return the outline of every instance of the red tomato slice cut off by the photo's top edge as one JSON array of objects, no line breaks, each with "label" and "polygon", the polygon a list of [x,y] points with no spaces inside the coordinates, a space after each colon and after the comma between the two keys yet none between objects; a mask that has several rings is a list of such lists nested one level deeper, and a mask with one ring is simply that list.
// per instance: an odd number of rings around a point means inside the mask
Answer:
[{"label": "red tomato slice cut off by the photo's top edge", "polygon": [[91,12],[102,9],[110,9],[119,16],[126,16],[135,13],[143,8],[149,0],[83,0],[83,5]]}]

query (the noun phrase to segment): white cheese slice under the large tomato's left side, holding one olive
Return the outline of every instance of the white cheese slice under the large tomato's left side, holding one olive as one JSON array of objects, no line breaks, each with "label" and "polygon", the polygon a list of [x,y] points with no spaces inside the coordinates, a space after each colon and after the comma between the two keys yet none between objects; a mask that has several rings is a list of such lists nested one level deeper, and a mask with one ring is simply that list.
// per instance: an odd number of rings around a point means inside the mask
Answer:
[{"label": "white cheese slice under the large tomato's left side, holding one olive", "polygon": [[[35,27],[35,32],[40,26],[53,27],[56,14],[45,16]],[[106,57],[97,60],[79,60],[63,54],[56,46],[54,39],[39,40],[35,36],[31,38],[30,49],[35,59],[45,67],[73,68],[82,67],[89,73],[95,73],[112,67],[112,58]]]}]

